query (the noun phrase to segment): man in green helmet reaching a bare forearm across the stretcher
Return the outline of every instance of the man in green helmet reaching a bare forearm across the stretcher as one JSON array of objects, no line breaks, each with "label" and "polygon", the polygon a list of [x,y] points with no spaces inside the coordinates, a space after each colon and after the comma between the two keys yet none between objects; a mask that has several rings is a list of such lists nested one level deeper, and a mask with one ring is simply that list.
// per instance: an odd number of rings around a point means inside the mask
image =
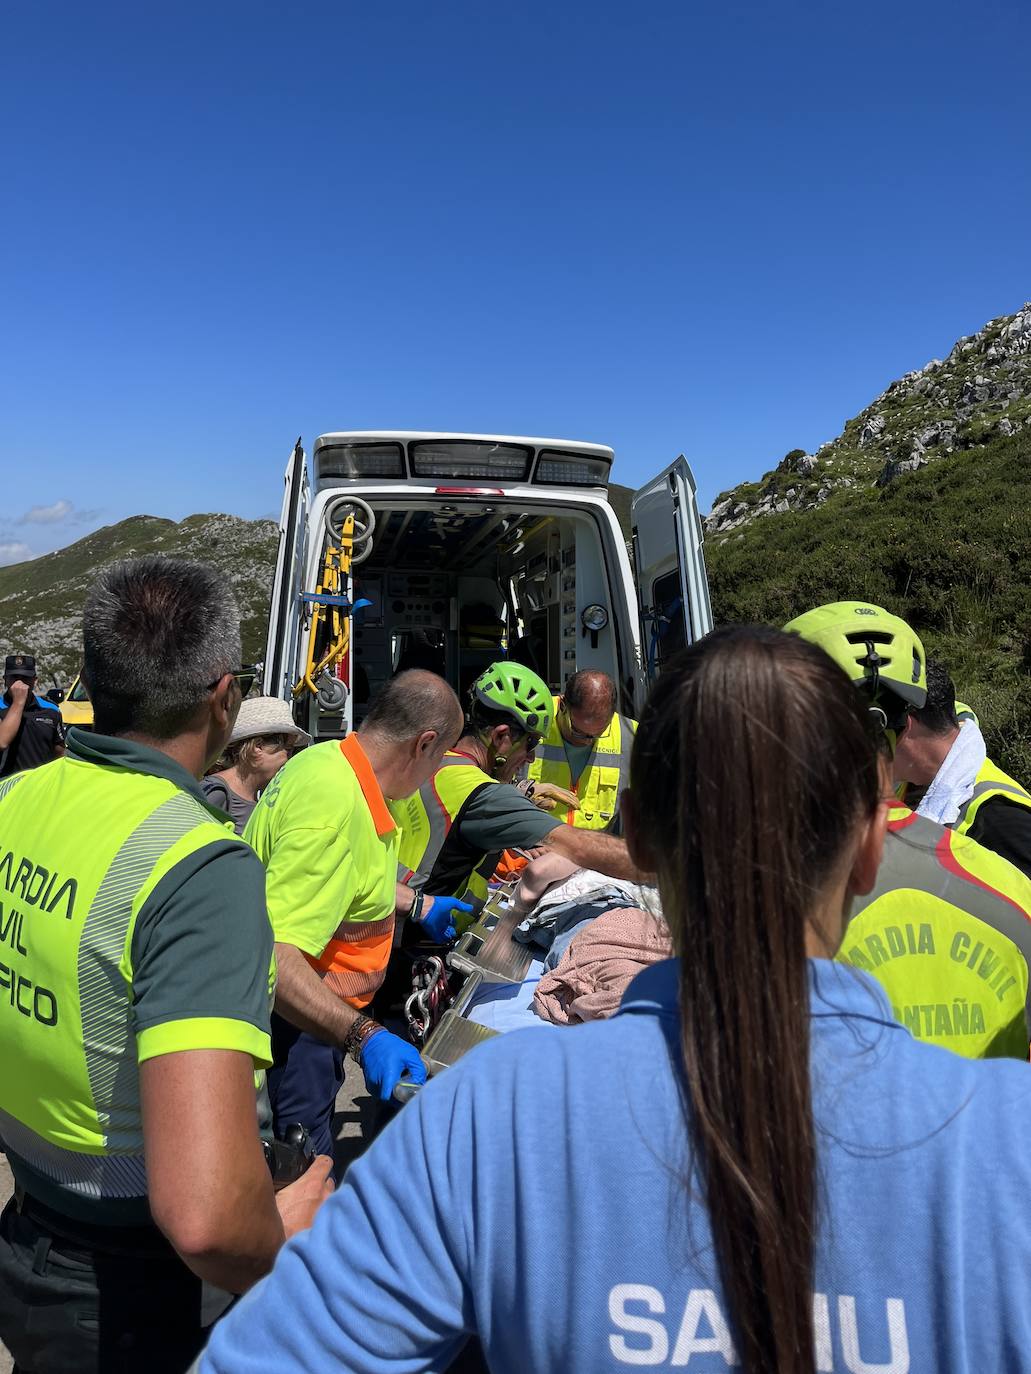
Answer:
[{"label": "man in green helmet reaching a bare forearm across the stretcher", "polygon": [[521,664],[496,662],[470,690],[465,732],[418,793],[392,808],[403,829],[400,872],[430,896],[478,910],[505,849],[554,849],[583,868],[641,879],[621,840],[564,824],[507,786],[551,730],[554,702]]}]

